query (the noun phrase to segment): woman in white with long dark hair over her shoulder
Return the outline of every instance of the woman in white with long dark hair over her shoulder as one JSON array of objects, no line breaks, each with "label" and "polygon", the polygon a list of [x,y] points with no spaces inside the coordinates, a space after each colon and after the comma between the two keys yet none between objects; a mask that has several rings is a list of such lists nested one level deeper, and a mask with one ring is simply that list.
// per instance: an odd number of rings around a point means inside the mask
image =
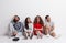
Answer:
[{"label": "woman in white with long dark hair over her shoulder", "polygon": [[24,24],[25,24],[24,31],[25,31],[26,39],[28,37],[32,39],[32,36],[33,36],[33,23],[29,17],[25,19]]}]

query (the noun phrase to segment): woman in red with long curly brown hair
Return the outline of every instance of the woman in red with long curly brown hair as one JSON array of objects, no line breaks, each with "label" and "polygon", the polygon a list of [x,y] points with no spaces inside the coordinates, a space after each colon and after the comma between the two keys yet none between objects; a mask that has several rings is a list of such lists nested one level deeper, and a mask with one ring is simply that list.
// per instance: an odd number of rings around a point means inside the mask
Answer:
[{"label": "woman in red with long curly brown hair", "polygon": [[38,37],[42,39],[44,23],[40,15],[35,17],[33,25],[34,25],[34,34],[37,35],[37,39]]}]

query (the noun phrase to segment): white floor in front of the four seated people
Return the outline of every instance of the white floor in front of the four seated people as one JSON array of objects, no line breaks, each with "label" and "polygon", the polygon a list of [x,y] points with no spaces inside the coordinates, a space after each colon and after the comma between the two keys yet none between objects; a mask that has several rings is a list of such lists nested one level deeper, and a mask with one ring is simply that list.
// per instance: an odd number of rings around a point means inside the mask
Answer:
[{"label": "white floor in front of the four seated people", "polygon": [[20,37],[19,41],[14,42],[12,41],[12,37],[8,36],[0,36],[0,43],[66,43],[66,35],[61,35],[58,39],[53,39],[52,36],[43,36],[43,39],[36,39],[36,36],[33,36],[32,40],[23,40]]}]

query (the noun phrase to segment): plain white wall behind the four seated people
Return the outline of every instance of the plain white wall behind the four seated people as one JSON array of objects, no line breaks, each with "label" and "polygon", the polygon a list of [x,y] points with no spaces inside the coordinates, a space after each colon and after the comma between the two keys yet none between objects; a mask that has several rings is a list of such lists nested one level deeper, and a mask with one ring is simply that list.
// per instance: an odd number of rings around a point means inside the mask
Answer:
[{"label": "plain white wall behind the four seated people", "polygon": [[0,0],[0,35],[6,34],[8,24],[14,14],[23,22],[26,17],[33,20],[35,15],[43,19],[46,14],[55,22],[56,33],[66,32],[65,0]]}]

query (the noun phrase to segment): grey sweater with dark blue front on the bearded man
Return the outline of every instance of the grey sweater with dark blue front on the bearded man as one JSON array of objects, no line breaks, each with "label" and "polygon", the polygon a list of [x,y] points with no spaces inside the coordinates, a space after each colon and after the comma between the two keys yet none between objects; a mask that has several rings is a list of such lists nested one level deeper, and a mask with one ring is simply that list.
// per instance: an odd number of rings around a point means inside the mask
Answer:
[{"label": "grey sweater with dark blue front on the bearded man", "polygon": [[21,23],[21,22],[16,22],[16,23],[11,22],[10,23],[10,31],[11,31],[11,33],[14,32],[14,31],[23,32],[23,30],[24,30],[23,23]]}]

